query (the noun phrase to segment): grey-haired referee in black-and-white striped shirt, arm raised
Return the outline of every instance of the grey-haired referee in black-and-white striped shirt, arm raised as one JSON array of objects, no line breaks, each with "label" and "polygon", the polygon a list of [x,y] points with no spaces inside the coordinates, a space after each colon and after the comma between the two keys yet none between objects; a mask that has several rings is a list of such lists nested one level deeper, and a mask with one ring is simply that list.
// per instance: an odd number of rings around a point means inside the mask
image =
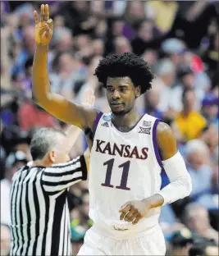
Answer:
[{"label": "grey-haired referee in black-and-white striped shirt, arm raised", "polygon": [[[94,90],[83,95],[86,107],[94,106]],[[33,162],[21,167],[11,181],[10,255],[71,255],[67,191],[87,179],[89,151],[70,161],[68,153],[81,130],[40,128],[30,143]]]}]

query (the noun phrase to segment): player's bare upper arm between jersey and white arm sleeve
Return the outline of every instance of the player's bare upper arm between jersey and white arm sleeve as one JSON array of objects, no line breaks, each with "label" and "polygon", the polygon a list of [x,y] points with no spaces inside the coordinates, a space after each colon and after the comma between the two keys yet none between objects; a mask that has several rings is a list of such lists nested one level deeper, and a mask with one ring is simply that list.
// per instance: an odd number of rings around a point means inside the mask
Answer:
[{"label": "player's bare upper arm between jersey and white arm sleeve", "polygon": [[177,152],[176,138],[171,127],[160,121],[157,125],[157,144],[162,160],[167,160]]}]

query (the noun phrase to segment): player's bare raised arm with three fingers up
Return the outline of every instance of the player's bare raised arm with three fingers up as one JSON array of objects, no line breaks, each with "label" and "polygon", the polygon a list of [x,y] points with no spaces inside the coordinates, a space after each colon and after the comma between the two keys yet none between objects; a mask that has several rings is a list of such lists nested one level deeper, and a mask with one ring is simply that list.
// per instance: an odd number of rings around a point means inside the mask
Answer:
[{"label": "player's bare raised arm with three fingers up", "polygon": [[41,5],[40,18],[34,11],[35,42],[37,44],[33,65],[33,98],[52,116],[71,125],[85,129],[93,127],[98,111],[93,107],[84,107],[51,92],[48,78],[48,43],[52,39],[52,19],[49,19],[48,5]]}]

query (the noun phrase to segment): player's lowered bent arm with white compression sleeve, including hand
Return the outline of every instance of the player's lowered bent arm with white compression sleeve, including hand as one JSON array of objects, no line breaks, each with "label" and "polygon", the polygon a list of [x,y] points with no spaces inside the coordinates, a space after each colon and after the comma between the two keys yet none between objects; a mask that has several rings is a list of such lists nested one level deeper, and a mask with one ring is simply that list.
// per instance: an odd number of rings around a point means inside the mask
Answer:
[{"label": "player's lowered bent arm with white compression sleeve, including hand", "polygon": [[124,218],[126,222],[132,222],[134,225],[145,217],[151,208],[183,199],[192,191],[191,178],[185,167],[184,159],[176,148],[176,139],[171,127],[163,122],[157,125],[157,143],[161,152],[162,165],[171,183],[159,194],[153,194],[143,200],[127,202],[121,207],[120,219]]}]

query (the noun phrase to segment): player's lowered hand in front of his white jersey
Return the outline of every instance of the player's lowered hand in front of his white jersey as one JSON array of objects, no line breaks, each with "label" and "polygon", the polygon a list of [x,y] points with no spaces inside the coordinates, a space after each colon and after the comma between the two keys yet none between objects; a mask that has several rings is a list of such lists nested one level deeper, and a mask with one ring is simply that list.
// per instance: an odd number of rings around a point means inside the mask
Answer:
[{"label": "player's lowered hand in front of his white jersey", "polygon": [[124,219],[125,222],[132,222],[135,225],[148,214],[150,208],[151,205],[145,200],[129,201],[119,210],[120,220]]}]

